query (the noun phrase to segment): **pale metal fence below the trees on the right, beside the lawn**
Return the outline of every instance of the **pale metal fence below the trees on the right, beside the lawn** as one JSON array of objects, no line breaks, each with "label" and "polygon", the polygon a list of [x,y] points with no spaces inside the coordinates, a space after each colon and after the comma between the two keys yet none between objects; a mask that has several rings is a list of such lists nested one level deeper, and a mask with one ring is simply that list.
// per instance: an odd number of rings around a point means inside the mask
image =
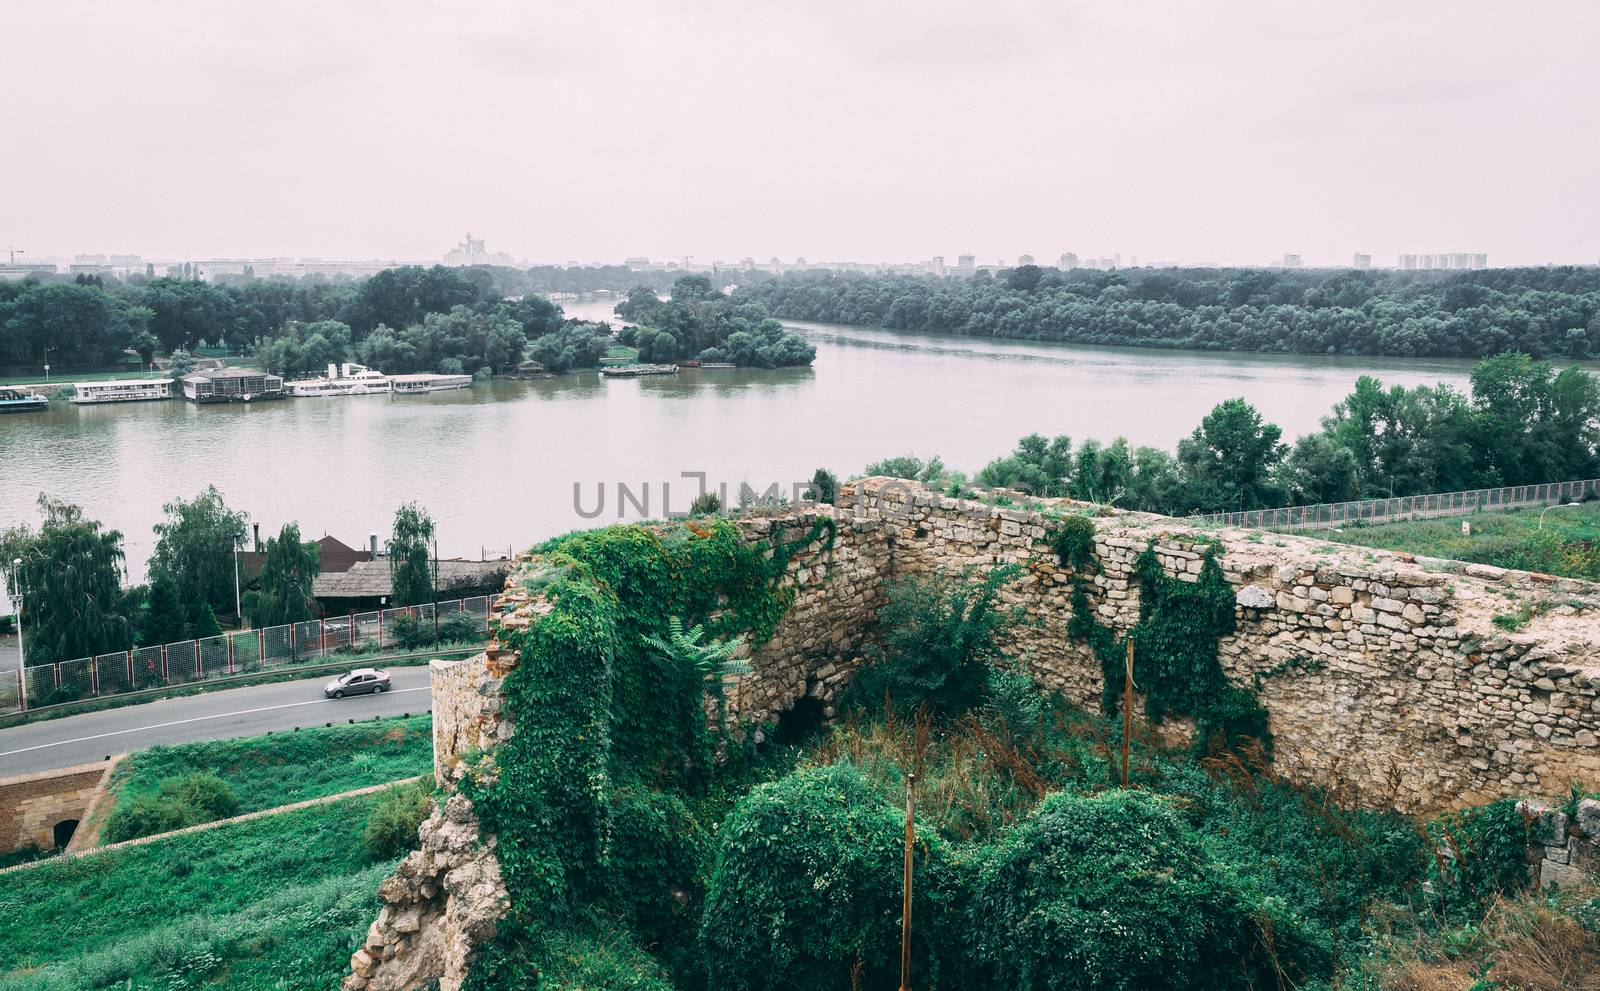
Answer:
[{"label": "pale metal fence below the trees on the right, beside the lawn", "polygon": [[1429,495],[1398,496],[1392,500],[1358,500],[1354,503],[1322,503],[1318,506],[1282,506],[1278,509],[1214,512],[1210,516],[1194,516],[1190,520],[1197,524],[1256,527],[1262,530],[1310,530],[1341,527],[1357,522],[1392,524],[1395,520],[1414,520],[1438,516],[1466,516],[1469,512],[1554,506],[1560,503],[1578,503],[1597,496],[1600,496],[1600,479],[1584,479],[1581,482],[1546,482],[1542,485],[1506,485],[1502,488],[1435,491]]}]

